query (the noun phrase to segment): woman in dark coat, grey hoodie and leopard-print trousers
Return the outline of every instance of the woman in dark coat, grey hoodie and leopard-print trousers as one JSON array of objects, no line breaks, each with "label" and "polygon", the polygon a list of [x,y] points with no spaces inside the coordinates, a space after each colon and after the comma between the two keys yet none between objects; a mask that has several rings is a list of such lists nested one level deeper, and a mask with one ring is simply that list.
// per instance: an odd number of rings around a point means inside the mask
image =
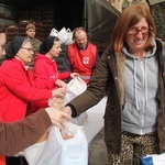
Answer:
[{"label": "woman in dark coat, grey hoodie and leopard-print trousers", "polygon": [[155,35],[148,7],[124,9],[87,90],[64,108],[77,117],[108,96],[103,118],[110,165],[139,165],[140,156],[165,152],[165,55]]}]

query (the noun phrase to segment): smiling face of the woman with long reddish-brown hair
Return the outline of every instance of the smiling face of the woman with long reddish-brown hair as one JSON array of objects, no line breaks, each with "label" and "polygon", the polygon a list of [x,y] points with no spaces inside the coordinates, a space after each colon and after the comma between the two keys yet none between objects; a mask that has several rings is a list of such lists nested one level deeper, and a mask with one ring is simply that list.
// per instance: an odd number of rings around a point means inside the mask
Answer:
[{"label": "smiling face of the woman with long reddish-brown hair", "polygon": [[139,23],[129,29],[125,42],[131,53],[144,51],[144,45],[148,38],[148,25],[143,18]]}]

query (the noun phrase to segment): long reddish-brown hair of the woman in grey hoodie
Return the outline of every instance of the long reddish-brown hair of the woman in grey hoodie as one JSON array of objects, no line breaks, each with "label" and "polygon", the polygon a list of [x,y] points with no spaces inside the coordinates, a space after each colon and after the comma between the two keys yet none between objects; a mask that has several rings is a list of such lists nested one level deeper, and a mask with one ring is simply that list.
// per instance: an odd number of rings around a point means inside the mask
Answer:
[{"label": "long reddish-brown hair of the woman in grey hoodie", "polygon": [[128,30],[145,18],[148,24],[148,38],[145,44],[145,50],[153,48],[153,37],[156,35],[156,28],[152,19],[148,7],[142,4],[132,4],[125,8],[118,19],[110,42],[110,48],[117,53],[121,53],[122,47],[127,45],[125,37]]}]

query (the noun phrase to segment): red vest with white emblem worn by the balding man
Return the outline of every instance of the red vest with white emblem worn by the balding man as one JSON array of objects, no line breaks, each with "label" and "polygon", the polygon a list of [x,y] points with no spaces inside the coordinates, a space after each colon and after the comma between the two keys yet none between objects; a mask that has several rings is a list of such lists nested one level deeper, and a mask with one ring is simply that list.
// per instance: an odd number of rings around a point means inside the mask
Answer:
[{"label": "red vest with white emblem worn by the balding man", "polygon": [[78,50],[75,43],[70,44],[68,46],[68,57],[73,73],[78,73],[80,76],[90,77],[96,65],[96,54],[97,46],[91,43],[88,43],[86,51]]}]

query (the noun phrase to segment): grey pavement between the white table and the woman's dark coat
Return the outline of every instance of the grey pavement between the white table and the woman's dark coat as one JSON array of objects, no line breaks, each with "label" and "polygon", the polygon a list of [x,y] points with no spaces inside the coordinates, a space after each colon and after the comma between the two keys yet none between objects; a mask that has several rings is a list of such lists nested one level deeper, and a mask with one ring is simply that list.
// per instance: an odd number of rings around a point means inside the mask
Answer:
[{"label": "grey pavement between the white table and the woman's dark coat", "polygon": [[103,129],[101,129],[90,142],[88,165],[108,165],[107,148],[103,138]]}]

